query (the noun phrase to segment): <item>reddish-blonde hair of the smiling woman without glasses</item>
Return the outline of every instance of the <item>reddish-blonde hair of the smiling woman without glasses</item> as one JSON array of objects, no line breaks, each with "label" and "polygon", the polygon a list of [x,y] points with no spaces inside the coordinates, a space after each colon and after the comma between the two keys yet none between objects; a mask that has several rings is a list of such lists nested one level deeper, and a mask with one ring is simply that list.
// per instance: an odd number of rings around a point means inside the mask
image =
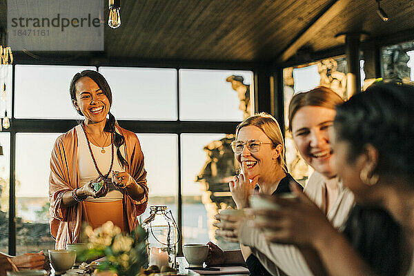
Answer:
[{"label": "reddish-blonde hair of the smiling woman without glasses", "polygon": [[344,100],[331,88],[318,86],[308,92],[299,93],[293,96],[289,103],[289,130],[292,131],[292,120],[297,110],[304,106],[321,106],[335,110],[338,104]]}]

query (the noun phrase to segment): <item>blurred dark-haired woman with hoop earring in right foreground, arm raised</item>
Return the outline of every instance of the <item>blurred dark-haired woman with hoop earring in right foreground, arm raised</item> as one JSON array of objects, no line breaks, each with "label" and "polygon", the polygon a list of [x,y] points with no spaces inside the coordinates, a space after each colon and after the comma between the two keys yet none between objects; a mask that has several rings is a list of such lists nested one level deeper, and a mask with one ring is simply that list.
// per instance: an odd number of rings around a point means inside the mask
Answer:
[{"label": "blurred dark-haired woman with hoop earring in right foreground, arm raised", "polygon": [[[295,192],[299,203],[275,199],[282,208],[273,212],[277,219],[267,226],[272,228],[266,234],[268,240],[313,246],[330,275],[414,275],[414,88],[394,84],[371,86],[337,107],[334,130],[334,166],[338,176],[355,194],[359,210],[382,211],[396,221],[395,231],[400,235],[395,250],[388,250],[395,240],[388,240],[371,252],[364,252],[360,246],[353,248],[299,190]],[[293,217],[292,210],[310,213],[298,219]],[[353,224],[353,220],[348,220],[351,230],[346,232],[352,234],[350,222]],[[310,229],[311,235],[306,235]],[[388,227],[364,229],[365,239],[361,242],[367,243],[373,235],[381,237],[384,230],[388,231]],[[387,262],[395,261],[397,266],[384,270],[377,255],[391,255]]]}]

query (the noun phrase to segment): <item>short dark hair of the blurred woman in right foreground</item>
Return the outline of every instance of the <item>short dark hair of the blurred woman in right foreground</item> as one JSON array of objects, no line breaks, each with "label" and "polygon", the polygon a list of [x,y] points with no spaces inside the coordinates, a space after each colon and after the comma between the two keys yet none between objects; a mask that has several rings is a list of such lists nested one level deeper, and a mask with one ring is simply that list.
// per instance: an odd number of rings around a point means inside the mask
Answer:
[{"label": "short dark hair of the blurred woman in right foreground", "polygon": [[334,128],[338,141],[348,141],[348,161],[367,144],[379,153],[380,175],[414,175],[414,87],[376,83],[337,106]]}]

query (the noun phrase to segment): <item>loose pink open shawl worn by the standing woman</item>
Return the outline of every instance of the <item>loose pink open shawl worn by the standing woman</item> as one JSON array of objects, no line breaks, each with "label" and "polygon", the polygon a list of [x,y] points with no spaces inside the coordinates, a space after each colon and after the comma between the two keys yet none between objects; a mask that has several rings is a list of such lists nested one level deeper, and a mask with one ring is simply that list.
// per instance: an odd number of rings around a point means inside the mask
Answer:
[{"label": "loose pink open shawl worn by the standing woman", "polygon": [[[124,221],[128,221],[126,230],[137,227],[137,216],[144,213],[148,204],[148,186],[144,154],[135,133],[116,126],[117,132],[125,137],[125,158],[130,164],[127,172],[144,188],[144,198],[135,201],[125,195]],[[77,132],[72,128],[59,136],[50,157],[49,200],[50,200],[50,233],[55,238],[55,248],[65,248],[66,244],[77,242],[81,233],[82,205],[61,207],[63,193],[79,187],[79,170],[77,164]]]}]

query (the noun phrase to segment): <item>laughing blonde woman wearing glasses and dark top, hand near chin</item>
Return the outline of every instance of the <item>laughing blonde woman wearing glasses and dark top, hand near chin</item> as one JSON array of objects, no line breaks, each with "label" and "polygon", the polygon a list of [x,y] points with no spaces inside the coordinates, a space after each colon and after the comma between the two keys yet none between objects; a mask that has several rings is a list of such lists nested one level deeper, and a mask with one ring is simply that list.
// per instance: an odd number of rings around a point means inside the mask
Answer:
[{"label": "laughing blonde woman wearing glasses and dark top, hand near chin", "polygon": [[[232,148],[241,168],[229,183],[237,209],[247,208],[248,197],[254,193],[277,195],[290,193],[291,185],[302,188],[286,170],[282,131],[271,115],[262,112],[239,124]],[[219,228],[217,235],[237,242],[237,219],[220,214],[217,219],[220,220],[215,224]],[[209,245],[208,264],[246,262],[252,275],[270,275],[255,256],[255,248],[241,245],[241,250],[223,252],[212,242]]]}]

